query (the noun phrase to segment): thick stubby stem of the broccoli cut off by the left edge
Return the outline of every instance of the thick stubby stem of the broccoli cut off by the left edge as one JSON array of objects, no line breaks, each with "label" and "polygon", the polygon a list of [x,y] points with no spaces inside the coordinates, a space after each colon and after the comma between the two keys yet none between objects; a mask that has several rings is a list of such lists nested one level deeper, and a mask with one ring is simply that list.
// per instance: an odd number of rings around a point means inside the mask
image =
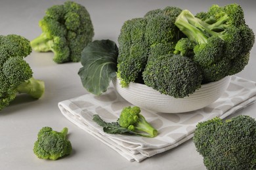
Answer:
[{"label": "thick stubby stem of the broccoli cut off by the left edge", "polygon": [[19,93],[27,93],[35,99],[39,99],[45,92],[45,84],[41,80],[35,80],[35,78],[30,78],[17,88]]}]

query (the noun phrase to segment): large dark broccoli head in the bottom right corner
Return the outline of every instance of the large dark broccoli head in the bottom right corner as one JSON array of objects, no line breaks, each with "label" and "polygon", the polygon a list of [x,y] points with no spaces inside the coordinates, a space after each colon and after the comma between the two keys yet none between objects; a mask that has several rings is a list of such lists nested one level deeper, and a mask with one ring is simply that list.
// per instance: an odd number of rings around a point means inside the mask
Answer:
[{"label": "large dark broccoli head in the bottom right corner", "polygon": [[244,115],[200,122],[194,131],[194,144],[207,169],[255,169],[255,139],[256,120]]}]

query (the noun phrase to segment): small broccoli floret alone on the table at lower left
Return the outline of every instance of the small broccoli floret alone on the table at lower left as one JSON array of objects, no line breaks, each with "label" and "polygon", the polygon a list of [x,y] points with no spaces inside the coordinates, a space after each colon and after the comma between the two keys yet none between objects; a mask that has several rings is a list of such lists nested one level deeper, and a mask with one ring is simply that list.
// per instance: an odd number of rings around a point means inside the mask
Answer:
[{"label": "small broccoli floret alone on the table at lower left", "polygon": [[68,128],[64,127],[62,131],[53,131],[51,127],[43,127],[37,135],[33,152],[38,158],[57,160],[67,156],[72,152],[72,144],[66,136]]}]

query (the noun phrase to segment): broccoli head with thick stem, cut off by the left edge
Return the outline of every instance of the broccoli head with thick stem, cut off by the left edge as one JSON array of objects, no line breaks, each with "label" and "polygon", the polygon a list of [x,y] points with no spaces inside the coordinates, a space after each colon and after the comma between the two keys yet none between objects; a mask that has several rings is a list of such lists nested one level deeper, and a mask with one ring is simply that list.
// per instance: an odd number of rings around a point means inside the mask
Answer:
[{"label": "broccoli head with thick stem, cut off by the left edge", "polygon": [[44,82],[33,78],[33,71],[24,60],[31,52],[28,39],[0,35],[0,110],[9,106],[17,93],[28,93],[35,99],[43,95]]}]

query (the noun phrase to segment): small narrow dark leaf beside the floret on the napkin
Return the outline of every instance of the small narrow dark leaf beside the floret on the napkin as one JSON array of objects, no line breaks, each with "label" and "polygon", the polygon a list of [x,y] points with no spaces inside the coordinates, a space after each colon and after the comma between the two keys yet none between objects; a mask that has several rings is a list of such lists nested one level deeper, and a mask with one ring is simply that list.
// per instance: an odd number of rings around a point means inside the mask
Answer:
[{"label": "small narrow dark leaf beside the floret on the napkin", "polygon": [[133,135],[137,135],[134,131],[130,131],[129,129],[126,129],[125,127],[121,127],[117,122],[105,122],[98,116],[98,114],[93,115],[93,121],[96,122],[99,126],[103,127],[103,131],[105,133],[111,133],[111,134],[123,134],[123,133],[129,133]]}]

